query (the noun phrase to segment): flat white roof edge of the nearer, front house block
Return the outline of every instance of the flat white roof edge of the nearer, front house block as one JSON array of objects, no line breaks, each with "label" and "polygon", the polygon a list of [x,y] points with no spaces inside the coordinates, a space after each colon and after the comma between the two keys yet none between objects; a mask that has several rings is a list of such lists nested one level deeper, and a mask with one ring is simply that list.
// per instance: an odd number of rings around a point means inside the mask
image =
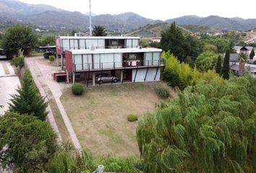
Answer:
[{"label": "flat white roof edge of the nearer, front house block", "polygon": [[150,53],[150,52],[159,52],[161,53],[161,49],[157,48],[115,48],[115,49],[80,49],[80,50],[67,50],[72,52],[72,54],[98,54],[98,53]]}]

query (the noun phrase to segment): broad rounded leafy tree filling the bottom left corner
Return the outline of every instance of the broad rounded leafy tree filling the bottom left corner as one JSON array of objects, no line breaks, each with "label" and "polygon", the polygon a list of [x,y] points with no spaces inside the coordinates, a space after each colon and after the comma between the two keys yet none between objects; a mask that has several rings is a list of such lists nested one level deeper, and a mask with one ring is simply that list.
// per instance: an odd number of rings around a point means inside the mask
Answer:
[{"label": "broad rounded leafy tree filling the bottom left corner", "polygon": [[56,151],[56,134],[46,122],[7,112],[0,117],[0,162],[17,172],[43,172]]}]

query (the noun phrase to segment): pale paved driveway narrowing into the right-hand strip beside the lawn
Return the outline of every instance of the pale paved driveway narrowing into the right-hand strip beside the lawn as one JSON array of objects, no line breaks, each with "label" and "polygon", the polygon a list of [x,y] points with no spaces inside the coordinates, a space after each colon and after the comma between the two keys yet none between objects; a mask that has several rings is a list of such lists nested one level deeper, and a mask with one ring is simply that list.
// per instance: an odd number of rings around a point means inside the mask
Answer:
[{"label": "pale paved driveway narrowing into the right-hand strip beside the lawn", "polygon": [[[38,58],[26,58],[26,63],[28,68],[32,69],[31,73],[32,74],[36,74],[34,75],[36,79],[38,79],[38,81],[40,81],[40,86],[41,88],[45,88],[42,86],[48,86],[48,88],[51,90],[51,93],[54,96],[54,99],[56,100],[56,104],[59,108],[59,112],[61,112],[61,116],[64,120],[64,124],[66,125],[66,128],[69,132],[69,136],[72,140],[72,143],[74,144],[74,148],[76,148],[77,150],[81,150],[81,145],[80,142],[78,141],[77,135],[74,133],[74,128],[72,127],[72,124],[70,123],[69,117],[64,109],[64,106],[61,103],[60,97],[61,97],[61,88],[59,87],[59,84],[56,83],[56,81],[54,81],[52,79],[51,76],[51,67],[43,65],[38,63]],[[34,78],[33,76],[33,78]]]}]

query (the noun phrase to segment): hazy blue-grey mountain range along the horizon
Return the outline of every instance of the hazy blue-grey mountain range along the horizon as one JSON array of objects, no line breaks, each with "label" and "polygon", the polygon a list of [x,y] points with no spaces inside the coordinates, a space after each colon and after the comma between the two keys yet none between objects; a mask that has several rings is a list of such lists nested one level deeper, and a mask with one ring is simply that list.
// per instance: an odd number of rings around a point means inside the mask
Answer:
[{"label": "hazy blue-grey mountain range along the horizon", "polygon": [[[133,12],[115,15],[93,15],[92,21],[93,25],[103,25],[108,30],[124,32],[136,30],[148,24],[163,22],[176,22],[177,25],[200,25],[226,30],[253,30],[256,28],[256,19],[218,16],[197,17],[192,15],[161,21],[148,19]],[[80,12],[69,12],[44,4],[35,5],[17,0],[0,0],[0,27],[7,27],[14,23],[56,29],[85,29],[89,27],[89,17]]]}]

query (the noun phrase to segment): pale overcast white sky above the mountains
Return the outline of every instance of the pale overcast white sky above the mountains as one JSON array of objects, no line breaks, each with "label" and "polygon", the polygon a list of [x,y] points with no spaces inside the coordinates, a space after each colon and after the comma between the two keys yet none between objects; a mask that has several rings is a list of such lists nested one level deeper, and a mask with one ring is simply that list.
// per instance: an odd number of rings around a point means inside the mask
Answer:
[{"label": "pale overcast white sky above the mountains", "polygon": [[[89,12],[89,0],[19,1],[28,4],[48,4],[72,12]],[[256,18],[256,0],[91,0],[91,4],[94,14],[135,12],[142,17],[161,20],[184,15]]]}]

